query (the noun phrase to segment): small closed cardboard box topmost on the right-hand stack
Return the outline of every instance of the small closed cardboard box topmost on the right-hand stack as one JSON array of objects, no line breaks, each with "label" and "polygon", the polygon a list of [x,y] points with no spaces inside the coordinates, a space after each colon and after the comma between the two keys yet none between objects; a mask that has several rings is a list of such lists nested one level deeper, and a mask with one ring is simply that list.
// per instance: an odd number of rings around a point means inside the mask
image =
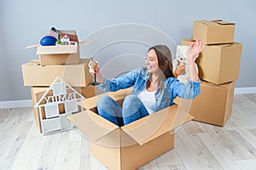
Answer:
[{"label": "small closed cardboard box topmost on the right-hand stack", "polygon": [[235,23],[224,20],[198,20],[194,22],[193,39],[201,38],[205,44],[234,42]]}]

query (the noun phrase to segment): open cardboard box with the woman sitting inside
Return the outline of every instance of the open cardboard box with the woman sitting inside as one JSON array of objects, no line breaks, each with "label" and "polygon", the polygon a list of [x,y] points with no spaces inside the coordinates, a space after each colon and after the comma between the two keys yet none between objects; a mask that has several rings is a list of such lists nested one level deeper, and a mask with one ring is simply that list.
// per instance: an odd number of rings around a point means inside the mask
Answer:
[{"label": "open cardboard box with the woman sitting inside", "polygon": [[[123,127],[97,114],[97,99],[109,95],[119,104],[129,89],[80,101],[87,111],[67,116],[90,139],[90,153],[109,169],[131,170],[162,155],[174,146],[173,129],[193,117],[172,105]],[[171,133],[170,133],[171,132]]]}]

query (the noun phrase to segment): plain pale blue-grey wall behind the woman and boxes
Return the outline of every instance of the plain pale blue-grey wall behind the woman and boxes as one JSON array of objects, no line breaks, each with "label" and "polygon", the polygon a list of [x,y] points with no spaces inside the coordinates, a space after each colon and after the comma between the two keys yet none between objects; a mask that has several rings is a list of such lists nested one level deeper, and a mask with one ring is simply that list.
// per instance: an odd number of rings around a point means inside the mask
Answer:
[{"label": "plain pale blue-grey wall behind the woman and boxes", "polygon": [[[76,30],[79,38],[84,38],[104,27],[137,23],[152,26],[179,43],[192,36],[194,20],[233,21],[236,22],[235,41],[243,43],[240,78],[236,81],[236,87],[256,87],[254,7],[256,3],[250,0],[1,0],[0,101],[31,99],[29,88],[23,87],[20,65],[38,57],[35,49],[24,48],[38,43],[40,37],[52,26]],[[147,49],[147,44],[116,43],[102,48],[96,58],[100,61],[102,59],[103,64],[104,59],[112,59],[122,54],[146,54]],[[82,53],[85,50],[87,48],[82,48]]]}]

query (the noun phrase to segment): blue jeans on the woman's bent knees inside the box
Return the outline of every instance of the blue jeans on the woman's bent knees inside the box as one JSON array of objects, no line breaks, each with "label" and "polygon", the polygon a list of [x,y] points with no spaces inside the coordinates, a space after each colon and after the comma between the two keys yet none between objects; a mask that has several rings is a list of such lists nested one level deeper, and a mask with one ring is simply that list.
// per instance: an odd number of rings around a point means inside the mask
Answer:
[{"label": "blue jeans on the woman's bent knees inside the box", "polygon": [[111,97],[103,96],[98,99],[97,109],[100,116],[119,127],[149,115],[143,102],[135,95],[126,96],[122,108]]}]

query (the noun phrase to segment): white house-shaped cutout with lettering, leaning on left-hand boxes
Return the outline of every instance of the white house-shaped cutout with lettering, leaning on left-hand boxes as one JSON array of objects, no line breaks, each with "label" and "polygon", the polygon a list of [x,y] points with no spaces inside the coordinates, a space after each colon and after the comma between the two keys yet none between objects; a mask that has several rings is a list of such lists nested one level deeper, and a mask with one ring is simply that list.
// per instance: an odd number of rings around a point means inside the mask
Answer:
[{"label": "white house-shaped cutout with lettering, leaning on left-hand boxes", "polygon": [[[84,108],[77,104],[83,99],[84,97],[79,92],[60,77],[56,77],[35,105],[39,111],[42,133],[57,133],[73,129],[73,124],[67,120],[66,116],[84,111]],[[61,107],[64,107],[62,111]]]}]

